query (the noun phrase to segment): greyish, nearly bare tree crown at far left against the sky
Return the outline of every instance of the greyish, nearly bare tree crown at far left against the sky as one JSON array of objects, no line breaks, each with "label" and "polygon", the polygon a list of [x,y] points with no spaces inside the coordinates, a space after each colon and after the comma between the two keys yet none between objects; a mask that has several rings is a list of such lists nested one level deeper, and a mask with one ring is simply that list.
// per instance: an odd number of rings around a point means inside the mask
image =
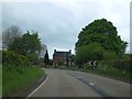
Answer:
[{"label": "greyish, nearly bare tree crown at far left against the sky", "polygon": [[2,47],[8,48],[14,38],[20,37],[22,32],[19,26],[11,26],[2,32]]}]

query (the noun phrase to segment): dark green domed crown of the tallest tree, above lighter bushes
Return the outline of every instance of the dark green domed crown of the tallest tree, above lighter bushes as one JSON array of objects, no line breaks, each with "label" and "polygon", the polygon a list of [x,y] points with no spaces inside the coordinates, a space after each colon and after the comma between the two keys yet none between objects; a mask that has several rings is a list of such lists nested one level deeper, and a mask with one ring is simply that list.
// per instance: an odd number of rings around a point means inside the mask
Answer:
[{"label": "dark green domed crown of the tallest tree, above lighter bushes", "polygon": [[119,56],[124,54],[128,44],[118,35],[117,28],[106,19],[95,20],[85,26],[78,35],[75,50],[77,52],[80,46],[95,42],[108,52],[116,52]]}]

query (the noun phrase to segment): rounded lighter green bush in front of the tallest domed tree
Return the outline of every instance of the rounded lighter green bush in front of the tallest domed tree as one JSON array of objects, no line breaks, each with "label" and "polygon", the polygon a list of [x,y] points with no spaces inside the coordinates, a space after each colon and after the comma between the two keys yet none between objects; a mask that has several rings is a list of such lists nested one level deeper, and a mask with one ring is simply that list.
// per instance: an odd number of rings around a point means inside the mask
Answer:
[{"label": "rounded lighter green bush in front of the tallest domed tree", "polygon": [[99,43],[82,45],[76,52],[76,63],[81,65],[88,61],[100,61],[103,58],[105,48]]}]

